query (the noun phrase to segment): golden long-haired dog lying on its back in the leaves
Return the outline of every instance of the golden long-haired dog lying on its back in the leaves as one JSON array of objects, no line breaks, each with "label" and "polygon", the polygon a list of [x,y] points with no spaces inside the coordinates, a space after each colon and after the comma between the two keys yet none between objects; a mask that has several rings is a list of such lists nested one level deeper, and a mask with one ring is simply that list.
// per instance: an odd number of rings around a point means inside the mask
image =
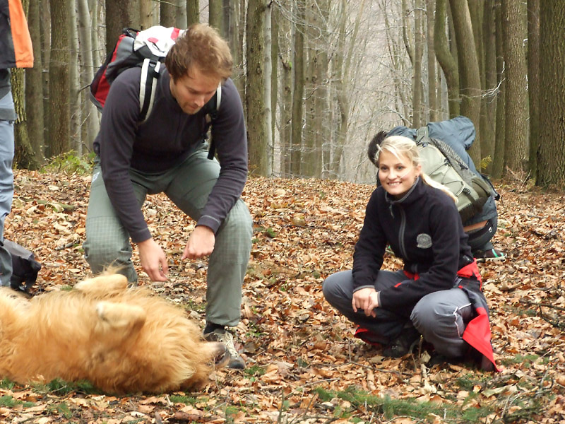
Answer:
[{"label": "golden long-haired dog lying on its back in the leaves", "polygon": [[198,389],[221,355],[225,346],[204,341],[184,310],[128,288],[118,273],[31,300],[0,290],[0,377],[21,384],[59,377],[115,394]]}]

